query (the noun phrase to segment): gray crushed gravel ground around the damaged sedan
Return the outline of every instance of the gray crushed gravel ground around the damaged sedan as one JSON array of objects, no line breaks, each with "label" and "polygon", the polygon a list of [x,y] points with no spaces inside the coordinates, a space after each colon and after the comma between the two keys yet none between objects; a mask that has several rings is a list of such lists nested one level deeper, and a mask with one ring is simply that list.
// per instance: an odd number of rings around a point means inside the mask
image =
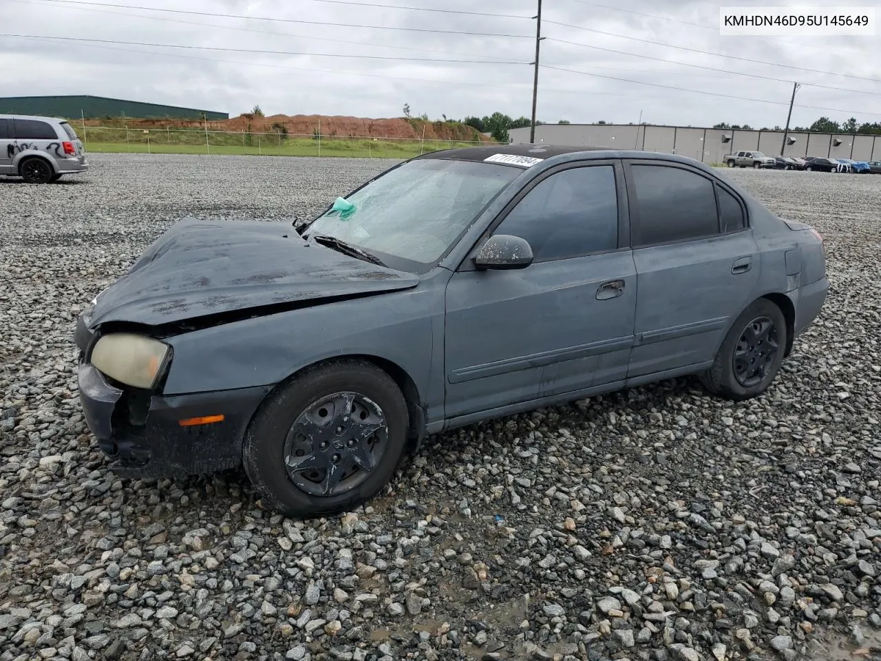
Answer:
[{"label": "gray crushed gravel ground around the damaged sedan", "polygon": [[434,436],[298,522],[107,472],[73,323],[175,219],[305,219],[391,161],[93,155],[0,179],[0,661],[881,658],[881,177],[726,171],[825,234],[764,397],[689,379]]}]

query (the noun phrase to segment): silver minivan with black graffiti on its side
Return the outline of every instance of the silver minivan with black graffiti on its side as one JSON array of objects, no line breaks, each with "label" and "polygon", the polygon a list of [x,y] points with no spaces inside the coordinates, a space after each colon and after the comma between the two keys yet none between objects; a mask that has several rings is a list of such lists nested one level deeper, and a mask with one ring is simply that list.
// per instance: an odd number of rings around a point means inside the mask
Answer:
[{"label": "silver minivan with black graffiti on its side", "polygon": [[70,123],[57,117],[0,115],[0,175],[50,183],[85,172],[85,147]]}]

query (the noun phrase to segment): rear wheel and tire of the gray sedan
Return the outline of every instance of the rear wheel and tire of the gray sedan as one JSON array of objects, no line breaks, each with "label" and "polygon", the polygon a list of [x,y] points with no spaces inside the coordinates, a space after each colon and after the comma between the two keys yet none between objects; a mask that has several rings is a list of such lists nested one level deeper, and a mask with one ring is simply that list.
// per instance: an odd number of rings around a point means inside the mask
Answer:
[{"label": "rear wheel and tire of the gray sedan", "polygon": [[[766,339],[755,342],[755,336],[748,332],[750,329],[767,331]],[[717,397],[734,401],[759,397],[780,370],[787,332],[786,318],[780,308],[767,299],[753,301],[731,325],[713,365],[700,375],[704,388]],[[751,343],[751,338],[755,344]],[[755,349],[751,351],[751,347]],[[738,354],[742,357],[740,361],[736,360]],[[756,371],[762,360],[764,368]],[[738,368],[738,365],[745,369]]]}]

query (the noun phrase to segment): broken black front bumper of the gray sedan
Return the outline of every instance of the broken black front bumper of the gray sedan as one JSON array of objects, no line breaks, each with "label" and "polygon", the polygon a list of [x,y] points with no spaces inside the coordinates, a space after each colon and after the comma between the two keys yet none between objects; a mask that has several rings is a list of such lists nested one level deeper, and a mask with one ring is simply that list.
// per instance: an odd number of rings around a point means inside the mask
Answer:
[{"label": "broken black front bumper of the gray sedan", "polygon": [[[79,399],[85,423],[110,468],[121,477],[159,479],[206,474],[241,464],[248,423],[271,386],[163,396],[117,387],[86,360],[91,334],[77,325]],[[224,420],[181,427],[180,421],[222,414]]]}]

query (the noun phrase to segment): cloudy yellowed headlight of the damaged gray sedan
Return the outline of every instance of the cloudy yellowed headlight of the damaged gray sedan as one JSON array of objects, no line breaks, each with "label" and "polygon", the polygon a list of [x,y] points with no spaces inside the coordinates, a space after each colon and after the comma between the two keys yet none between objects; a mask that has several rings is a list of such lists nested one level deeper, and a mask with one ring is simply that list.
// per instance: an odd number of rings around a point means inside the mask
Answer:
[{"label": "cloudy yellowed headlight of the damaged gray sedan", "polygon": [[111,333],[92,350],[92,364],[118,382],[150,390],[156,386],[171,347],[152,338]]}]

